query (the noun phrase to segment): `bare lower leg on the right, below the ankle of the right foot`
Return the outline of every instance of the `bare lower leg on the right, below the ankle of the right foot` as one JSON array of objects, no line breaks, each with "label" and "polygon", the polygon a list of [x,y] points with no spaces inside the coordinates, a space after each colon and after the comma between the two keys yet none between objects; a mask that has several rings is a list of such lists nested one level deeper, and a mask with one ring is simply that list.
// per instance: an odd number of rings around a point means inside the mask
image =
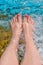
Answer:
[{"label": "bare lower leg on the right, below the ankle of the right foot", "polygon": [[[30,38],[30,37],[29,37]],[[39,53],[34,45],[33,39],[27,40],[26,53],[22,65],[41,65]]]}]

